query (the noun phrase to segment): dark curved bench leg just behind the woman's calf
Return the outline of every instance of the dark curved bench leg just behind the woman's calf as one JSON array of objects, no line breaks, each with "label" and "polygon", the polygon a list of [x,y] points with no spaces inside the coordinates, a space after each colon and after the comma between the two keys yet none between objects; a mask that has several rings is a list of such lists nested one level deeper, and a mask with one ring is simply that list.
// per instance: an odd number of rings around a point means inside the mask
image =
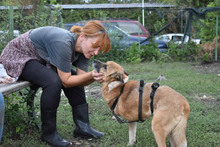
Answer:
[{"label": "dark curved bench leg just behind the woman's calf", "polygon": [[27,106],[28,106],[28,116],[32,118],[32,120],[35,120],[36,125],[39,129],[41,129],[41,124],[38,123],[38,119],[35,113],[35,108],[34,108],[34,97],[38,91],[38,87],[30,87],[29,93],[27,95]]}]

